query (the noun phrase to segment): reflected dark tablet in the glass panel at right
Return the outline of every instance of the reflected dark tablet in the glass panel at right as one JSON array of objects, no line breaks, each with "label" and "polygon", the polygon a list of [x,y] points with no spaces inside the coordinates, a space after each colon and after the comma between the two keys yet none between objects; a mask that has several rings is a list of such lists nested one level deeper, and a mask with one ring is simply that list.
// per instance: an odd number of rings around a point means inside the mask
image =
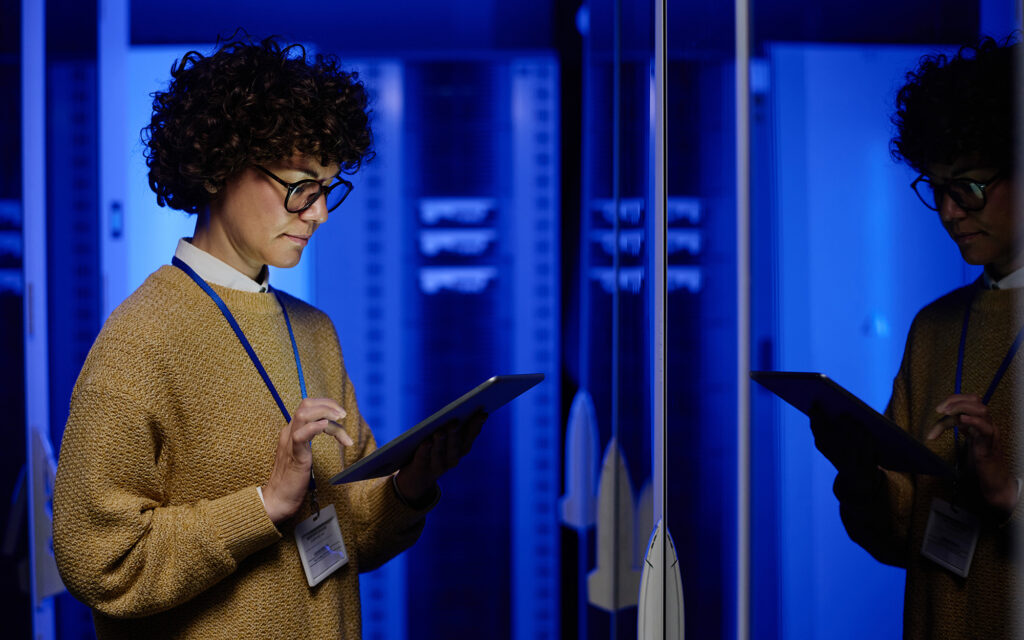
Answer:
[{"label": "reflected dark tablet in the glass panel at right", "polygon": [[953,475],[952,467],[932,450],[824,374],[752,371],[751,378],[807,416],[817,411],[830,419],[851,419],[866,429],[879,447],[879,466],[885,469]]}]

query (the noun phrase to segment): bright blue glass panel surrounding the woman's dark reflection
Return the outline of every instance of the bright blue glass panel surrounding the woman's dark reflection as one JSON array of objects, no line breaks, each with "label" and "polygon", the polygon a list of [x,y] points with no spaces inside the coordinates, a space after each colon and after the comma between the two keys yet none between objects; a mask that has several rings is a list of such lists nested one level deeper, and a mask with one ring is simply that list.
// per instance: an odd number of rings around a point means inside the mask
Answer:
[{"label": "bright blue glass panel surrounding the woman's dark reflection", "polygon": [[[871,25],[839,7],[802,22],[757,5],[753,369],[823,372],[885,409],[914,314],[980,272],[889,155],[895,93],[923,54],[1009,34],[1014,4],[932,3],[920,20],[925,3],[872,2],[891,19]],[[850,541],[807,418],[752,393],[758,637],[898,636],[905,571]]]}]

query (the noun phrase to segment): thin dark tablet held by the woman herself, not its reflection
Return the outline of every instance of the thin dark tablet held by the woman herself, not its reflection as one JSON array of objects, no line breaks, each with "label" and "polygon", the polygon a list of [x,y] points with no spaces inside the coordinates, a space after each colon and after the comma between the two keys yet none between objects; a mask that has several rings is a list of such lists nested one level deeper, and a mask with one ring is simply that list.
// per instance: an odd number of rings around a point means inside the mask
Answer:
[{"label": "thin dark tablet held by the woman herself, not its reflection", "polygon": [[412,429],[331,478],[332,484],[390,475],[413,459],[430,434],[452,420],[465,420],[478,411],[488,416],[544,380],[544,374],[495,376],[449,402]]}]

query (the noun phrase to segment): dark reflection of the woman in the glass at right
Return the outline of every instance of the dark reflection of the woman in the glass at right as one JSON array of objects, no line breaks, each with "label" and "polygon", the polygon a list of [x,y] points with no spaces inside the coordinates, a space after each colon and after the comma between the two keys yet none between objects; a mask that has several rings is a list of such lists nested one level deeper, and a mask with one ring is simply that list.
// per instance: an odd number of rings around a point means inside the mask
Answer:
[{"label": "dark reflection of the woman in the glass at right", "polygon": [[914,189],[964,259],[985,266],[977,282],[918,314],[888,409],[957,468],[957,481],[882,470],[837,425],[813,425],[839,471],[850,537],[907,569],[907,638],[1013,636],[1024,420],[1016,353],[1024,224],[1013,202],[1018,48],[987,40],[950,58],[926,57],[897,101],[894,154],[922,172]]}]

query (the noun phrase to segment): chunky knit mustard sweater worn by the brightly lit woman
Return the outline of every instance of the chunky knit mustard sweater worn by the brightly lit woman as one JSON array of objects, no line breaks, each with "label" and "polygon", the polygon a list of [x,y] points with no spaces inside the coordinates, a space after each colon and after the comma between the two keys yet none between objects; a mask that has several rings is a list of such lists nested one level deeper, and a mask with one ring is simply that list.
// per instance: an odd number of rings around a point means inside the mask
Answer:
[{"label": "chunky knit mustard sweater worn by the brightly lit woman", "polygon": [[[301,397],[272,294],[214,286],[285,404]],[[308,395],[348,413],[350,465],[376,446],[331,322],[288,296]],[[72,396],[53,498],[53,543],[69,591],[99,638],[358,638],[357,573],[419,537],[424,512],[390,479],[332,486],[336,441],[313,439],[321,505],[334,504],[349,562],[310,589],[293,528],[256,487],[284,418],[227,322],[179,269],[152,274],[106,321]]]}]

